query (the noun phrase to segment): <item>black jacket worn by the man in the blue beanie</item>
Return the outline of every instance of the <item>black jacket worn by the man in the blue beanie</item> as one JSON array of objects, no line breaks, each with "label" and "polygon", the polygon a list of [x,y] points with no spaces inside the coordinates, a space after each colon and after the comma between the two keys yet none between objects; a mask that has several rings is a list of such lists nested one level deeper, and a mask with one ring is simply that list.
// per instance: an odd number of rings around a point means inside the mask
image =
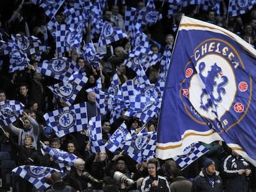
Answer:
[{"label": "black jacket worn by the man in the blue beanie", "polygon": [[[213,185],[211,184],[213,183]],[[221,192],[222,191],[222,179],[219,175],[219,172],[215,173],[210,178],[210,175],[207,175],[205,169],[199,173],[192,185],[192,192]]]}]

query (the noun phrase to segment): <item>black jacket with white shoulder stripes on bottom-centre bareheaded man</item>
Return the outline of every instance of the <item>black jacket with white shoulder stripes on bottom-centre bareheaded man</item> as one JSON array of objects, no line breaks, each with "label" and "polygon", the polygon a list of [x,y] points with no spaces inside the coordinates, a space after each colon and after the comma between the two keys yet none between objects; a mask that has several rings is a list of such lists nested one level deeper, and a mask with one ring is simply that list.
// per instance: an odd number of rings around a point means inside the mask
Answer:
[{"label": "black jacket with white shoulder stripes on bottom-centre bareheaded man", "polygon": [[[154,180],[158,180],[158,186],[153,187],[152,183]],[[168,181],[166,178],[158,175],[156,178],[152,178],[150,176],[145,177],[142,181],[142,187],[141,187],[142,192],[144,191],[150,191],[150,192],[169,192],[171,191],[169,188]]]}]

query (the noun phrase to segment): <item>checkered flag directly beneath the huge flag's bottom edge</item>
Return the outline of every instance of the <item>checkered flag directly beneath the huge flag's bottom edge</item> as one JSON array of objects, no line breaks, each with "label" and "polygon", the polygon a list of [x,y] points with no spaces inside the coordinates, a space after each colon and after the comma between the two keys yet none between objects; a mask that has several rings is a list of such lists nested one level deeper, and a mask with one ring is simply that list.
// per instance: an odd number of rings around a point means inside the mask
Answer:
[{"label": "checkered flag directly beneath the huge flag's bottom edge", "polygon": [[184,149],[183,155],[173,157],[173,160],[179,164],[181,169],[185,169],[188,165],[192,164],[192,162],[207,152],[208,149],[201,143],[192,143]]}]

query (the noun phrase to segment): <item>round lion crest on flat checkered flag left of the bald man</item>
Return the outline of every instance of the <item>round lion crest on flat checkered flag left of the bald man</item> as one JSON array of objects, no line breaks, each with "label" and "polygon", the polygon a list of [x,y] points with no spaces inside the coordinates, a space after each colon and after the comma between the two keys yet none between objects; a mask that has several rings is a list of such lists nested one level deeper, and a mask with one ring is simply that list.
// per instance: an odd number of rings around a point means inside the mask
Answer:
[{"label": "round lion crest on flat checkered flag left of the bald man", "polygon": [[76,116],[73,111],[64,110],[61,114],[58,115],[57,124],[61,127],[62,130],[69,129],[75,124]]}]

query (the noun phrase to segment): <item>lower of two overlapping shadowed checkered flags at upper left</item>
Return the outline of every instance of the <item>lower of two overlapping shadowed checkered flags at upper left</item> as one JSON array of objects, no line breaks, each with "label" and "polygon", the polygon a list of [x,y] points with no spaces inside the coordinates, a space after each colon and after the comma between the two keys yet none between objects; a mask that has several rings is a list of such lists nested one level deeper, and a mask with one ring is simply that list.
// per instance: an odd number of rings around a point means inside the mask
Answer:
[{"label": "lower of two overlapping shadowed checkered flags at upper left", "polygon": [[[9,46],[11,46],[11,43],[9,43]],[[24,70],[30,62],[30,60],[27,57],[27,54],[25,54],[21,49],[19,49],[17,44],[14,43],[12,44],[9,57],[9,73]]]}]

